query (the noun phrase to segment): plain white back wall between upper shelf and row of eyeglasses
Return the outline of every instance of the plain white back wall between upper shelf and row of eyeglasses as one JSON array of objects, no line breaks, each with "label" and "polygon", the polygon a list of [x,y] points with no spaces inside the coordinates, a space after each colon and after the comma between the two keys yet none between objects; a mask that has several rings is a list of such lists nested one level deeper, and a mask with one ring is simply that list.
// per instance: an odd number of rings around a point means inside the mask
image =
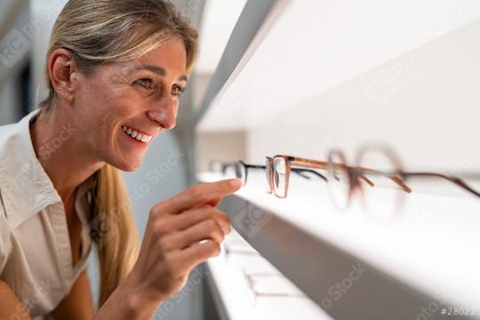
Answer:
[{"label": "plain white back wall between upper shelf and row of eyeglasses", "polygon": [[288,109],[247,132],[248,159],[339,147],[351,161],[381,140],[409,168],[480,170],[479,33],[476,21]]}]

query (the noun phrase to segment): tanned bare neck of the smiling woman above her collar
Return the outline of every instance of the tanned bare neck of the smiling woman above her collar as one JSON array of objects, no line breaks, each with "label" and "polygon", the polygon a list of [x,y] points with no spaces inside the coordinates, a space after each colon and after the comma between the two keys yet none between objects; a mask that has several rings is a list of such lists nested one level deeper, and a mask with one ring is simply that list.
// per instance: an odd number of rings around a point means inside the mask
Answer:
[{"label": "tanned bare neck of the smiling woman above her collar", "polygon": [[36,157],[64,203],[75,196],[76,188],[105,163],[76,135],[75,124],[66,108],[52,106],[41,111],[30,125]]}]

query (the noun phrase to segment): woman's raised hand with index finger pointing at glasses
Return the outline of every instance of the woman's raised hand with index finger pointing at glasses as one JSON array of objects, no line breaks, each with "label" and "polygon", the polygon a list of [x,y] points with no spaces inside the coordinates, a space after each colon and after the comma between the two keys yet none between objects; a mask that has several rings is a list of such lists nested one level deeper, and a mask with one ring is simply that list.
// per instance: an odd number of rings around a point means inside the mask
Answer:
[{"label": "woman's raised hand with index finger pointing at glasses", "polygon": [[230,223],[215,207],[240,187],[237,179],[195,185],[150,210],[139,258],[128,276],[142,303],[158,307],[180,292],[197,264],[220,254]]}]

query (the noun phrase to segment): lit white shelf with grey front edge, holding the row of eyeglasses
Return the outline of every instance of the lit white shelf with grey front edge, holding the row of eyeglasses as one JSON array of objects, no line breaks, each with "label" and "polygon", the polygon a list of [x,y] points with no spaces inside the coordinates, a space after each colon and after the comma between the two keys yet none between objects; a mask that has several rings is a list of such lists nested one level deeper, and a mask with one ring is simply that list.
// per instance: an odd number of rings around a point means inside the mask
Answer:
[{"label": "lit white shelf with grey front edge, holding the row of eyeglasses", "polygon": [[[332,208],[320,181],[293,178],[289,198],[279,199],[267,195],[264,179],[249,173],[247,186],[221,209],[252,247],[334,318],[417,318],[430,308],[428,318],[436,319],[444,318],[442,306],[480,308],[477,199],[419,193],[409,203],[422,204],[420,211],[373,220],[356,207]],[[365,271],[357,281],[345,280],[358,268]]]}]

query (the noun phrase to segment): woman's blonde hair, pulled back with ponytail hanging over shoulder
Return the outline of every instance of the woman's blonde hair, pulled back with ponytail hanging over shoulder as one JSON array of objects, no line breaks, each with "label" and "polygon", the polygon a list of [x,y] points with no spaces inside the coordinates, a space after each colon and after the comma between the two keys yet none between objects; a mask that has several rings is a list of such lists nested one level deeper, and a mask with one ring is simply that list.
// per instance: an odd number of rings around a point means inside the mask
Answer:
[{"label": "woman's blonde hair, pulled back with ponytail hanging over shoulder", "polygon": [[[69,0],[52,28],[46,61],[54,50],[64,48],[71,52],[76,66],[88,72],[105,62],[139,58],[175,37],[185,44],[190,72],[198,35],[169,1]],[[55,100],[47,63],[44,81],[48,97],[39,104],[42,112],[50,111]],[[139,240],[121,172],[106,164],[94,177],[90,227],[100,235],[96,245],[100,307],[132,269]]]}]

